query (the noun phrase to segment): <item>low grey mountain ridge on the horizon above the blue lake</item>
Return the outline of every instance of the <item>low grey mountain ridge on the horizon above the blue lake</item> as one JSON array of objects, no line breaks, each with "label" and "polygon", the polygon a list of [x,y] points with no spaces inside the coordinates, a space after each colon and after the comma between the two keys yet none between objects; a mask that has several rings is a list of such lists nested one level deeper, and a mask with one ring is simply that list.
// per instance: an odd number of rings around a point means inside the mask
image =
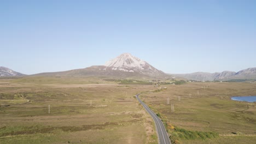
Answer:
[{"label": "low grey mountain ridge on the horizon above the blue lake", "polygon": [[174,76],[184,77],[189,80],[197,81],[226,81],[226,80],[256,80],[256,68],[248,68],[240,70],[237,73],[234,71],[223,71],[222,73],[191,73],[191,74],[173,74]]}]

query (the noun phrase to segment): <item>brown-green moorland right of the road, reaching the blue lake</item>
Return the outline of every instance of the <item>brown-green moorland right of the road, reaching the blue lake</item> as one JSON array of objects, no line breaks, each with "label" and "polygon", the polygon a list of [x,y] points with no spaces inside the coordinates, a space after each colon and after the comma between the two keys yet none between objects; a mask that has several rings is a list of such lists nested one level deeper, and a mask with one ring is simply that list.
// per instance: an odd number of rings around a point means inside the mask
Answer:
[{"label": "brown-green moorland right of the road, reaching the blue lake", "polygon": [[162,87],[166,88],[144,92],[141,97],[170,126],[173,141],[255,143],[256,103],[230,100],[231,96],[256,95],[255,83],[189,82]]}]

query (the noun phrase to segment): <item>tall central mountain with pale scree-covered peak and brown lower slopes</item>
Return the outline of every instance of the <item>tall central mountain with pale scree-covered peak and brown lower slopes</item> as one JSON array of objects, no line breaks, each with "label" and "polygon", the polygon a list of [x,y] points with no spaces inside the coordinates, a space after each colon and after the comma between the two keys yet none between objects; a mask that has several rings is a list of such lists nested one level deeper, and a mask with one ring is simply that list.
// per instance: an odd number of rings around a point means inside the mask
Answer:
[{"label": "tall central mountain with pale scree-covered peak and brown lower slopes", "polygon": [[149,63],[123,53],[104,65],[94,65],[84,69],[74,69],[55,73],[40,73],[40,76],[111,76],[119,78],[165,78],[171,77]]}]

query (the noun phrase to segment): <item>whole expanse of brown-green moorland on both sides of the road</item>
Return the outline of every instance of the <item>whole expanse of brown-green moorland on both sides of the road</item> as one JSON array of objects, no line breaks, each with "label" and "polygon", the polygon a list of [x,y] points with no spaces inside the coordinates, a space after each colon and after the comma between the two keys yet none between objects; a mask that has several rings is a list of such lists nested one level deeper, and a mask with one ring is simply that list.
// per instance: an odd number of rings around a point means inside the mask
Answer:
[{"label": "whole expanse of brown-green moorland on both sides of the road", "polygon": [[256,95],[256,83],[118,85],[105,79],[0,79],[0,143],[158,143],[137,93],[162,118],[173,143],[256,141],[256,104],[230,100]]}]

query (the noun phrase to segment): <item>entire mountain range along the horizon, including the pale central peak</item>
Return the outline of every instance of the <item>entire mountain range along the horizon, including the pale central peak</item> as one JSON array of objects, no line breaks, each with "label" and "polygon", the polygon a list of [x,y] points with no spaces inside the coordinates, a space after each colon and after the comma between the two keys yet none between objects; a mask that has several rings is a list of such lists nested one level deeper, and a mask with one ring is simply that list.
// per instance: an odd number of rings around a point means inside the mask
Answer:
[{"label": "entire mountain range along the horizon, including the pale central peak", "polygon": [[[0,67],[0,76],[24,76],[11,69]],[[223,71],[222,73],[204,73],[196,72],[191,74],[166,74],[161,70],[154,68],[146,61],[132,56],[130,53],[123,53],[120,56],[111,59],[104,65],[94,65],[84,69],[74,69],[53,73],[40,73],[32,76],[102,76],[118,78],[139,78],[139,79],[172,79],[175,77],[184,77],[188,80],[197,81],[226,81],[247,79],[256,80],[256,68],[248,68],[234,71]]]}]

